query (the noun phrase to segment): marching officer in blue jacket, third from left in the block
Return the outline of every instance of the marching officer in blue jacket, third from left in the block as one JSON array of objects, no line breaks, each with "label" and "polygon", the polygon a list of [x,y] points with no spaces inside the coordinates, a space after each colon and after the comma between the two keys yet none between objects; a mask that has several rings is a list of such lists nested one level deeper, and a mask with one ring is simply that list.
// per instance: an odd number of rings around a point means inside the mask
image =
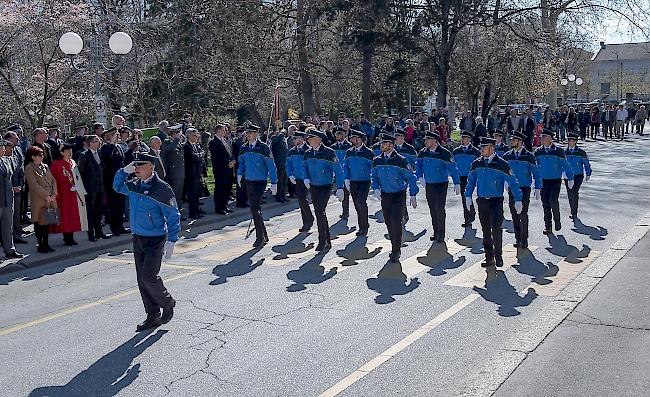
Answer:
[{"label": "marching officer in blue jacket, third from left in the block", "polygon": [[341,165],[332,148],[323,144],[325,135],[316,128],[307,128],[307,139],[310,148],[305,152],[303,171],[304,183],[311,190],[311,200],[314,204],[314,214],[318,225],[318,245],[316,251],[332,248],[330,228],[327,223],[327,202],[332,193],[332,181],[336,177],[336,197],[343,201],[343,176]]}]

